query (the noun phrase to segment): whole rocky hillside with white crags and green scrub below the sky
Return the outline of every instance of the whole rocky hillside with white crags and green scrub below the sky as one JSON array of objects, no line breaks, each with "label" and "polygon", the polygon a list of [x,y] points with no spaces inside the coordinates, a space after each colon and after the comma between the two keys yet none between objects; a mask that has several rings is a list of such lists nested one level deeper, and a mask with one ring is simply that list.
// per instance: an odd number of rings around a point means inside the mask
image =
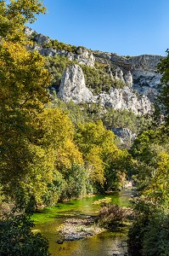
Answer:
[{"label": "whole rocky hillside with white crags and green scrub below the sky", "polygon": [[31,49],[46,56],[53,75],[53,96],[66,105],[74,102],[83,111],[85,108],[89,118],[102,119],[110,130],[125,127],[138,133],[149,126],[161,79],[157,64],[162,56],[121,56],[60,43],[28,27],[25,33],[34,42]]}]

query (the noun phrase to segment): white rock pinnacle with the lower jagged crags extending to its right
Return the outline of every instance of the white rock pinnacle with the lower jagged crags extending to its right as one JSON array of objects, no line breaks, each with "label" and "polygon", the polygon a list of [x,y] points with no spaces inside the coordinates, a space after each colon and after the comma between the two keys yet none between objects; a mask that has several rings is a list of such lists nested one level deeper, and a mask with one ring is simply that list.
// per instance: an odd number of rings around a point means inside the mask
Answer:
[{"label": "white rock pinnacle with the lower jagged crags extending to its right", "polygon": [[[120,70],[118,70],[119,73]],[[122,75],[122,73],[121,73]],[[122,79],[122,76],[120,77]],[[151,113],[152,107],[147,96],[137,96],[132,88],[124,86],[123,89],[111,88],[109,93],[100,93],[93,96],[85,84],[82,68],[78,65],[67,67],[59,86],[59,98],[65,102],[95,102],[110,108],[127,109],[135,114]]]}]

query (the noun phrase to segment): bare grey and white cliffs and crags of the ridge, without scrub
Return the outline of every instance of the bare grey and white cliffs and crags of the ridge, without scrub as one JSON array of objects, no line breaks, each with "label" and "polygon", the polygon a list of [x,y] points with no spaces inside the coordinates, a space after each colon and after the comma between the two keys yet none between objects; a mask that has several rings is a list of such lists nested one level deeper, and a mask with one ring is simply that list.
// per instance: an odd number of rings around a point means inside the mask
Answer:
[{"label": "bare grey and white cliffs and crags of the ridge, without scrub", "polygon": [[157,73],[157,64],[163,58],[160,55],[121,56],[114,53],[93,51],[77,47],[76,53],[61,49],[44,48],[50,38],[25,28],[28,37],[37,42],[31,49],[37,49],[45,56],[65,56],[71,61],[94,68],[96,62],[106,65],[106,72],[112,81],[121,80],[123,89],[111,88],[109,93],[101,92],[93,96],[85,85],[82,68],[78,65],[68,67],[63,74],[58,96],[66,102],[101,103],[115,109],[132,110],[136,114],[147,114],[152,111],[151,102],[158,94],[161,74]]}]

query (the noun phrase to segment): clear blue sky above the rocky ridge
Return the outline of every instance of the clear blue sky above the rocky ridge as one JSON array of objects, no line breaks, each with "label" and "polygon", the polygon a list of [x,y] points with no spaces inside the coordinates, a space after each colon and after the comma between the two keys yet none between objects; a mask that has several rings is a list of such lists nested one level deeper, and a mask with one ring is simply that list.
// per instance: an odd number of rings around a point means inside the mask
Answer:
[{"label": "clear blue sky above the rocky ridge", "polygon": [[65,44],[118,55],[166,55],[169,0],[43,0],[31,28]]}]

